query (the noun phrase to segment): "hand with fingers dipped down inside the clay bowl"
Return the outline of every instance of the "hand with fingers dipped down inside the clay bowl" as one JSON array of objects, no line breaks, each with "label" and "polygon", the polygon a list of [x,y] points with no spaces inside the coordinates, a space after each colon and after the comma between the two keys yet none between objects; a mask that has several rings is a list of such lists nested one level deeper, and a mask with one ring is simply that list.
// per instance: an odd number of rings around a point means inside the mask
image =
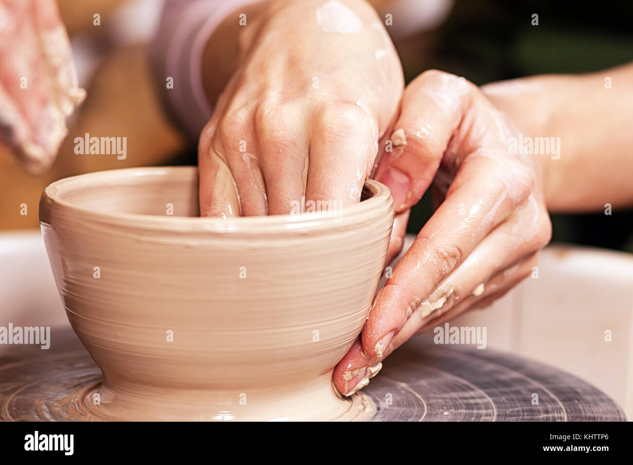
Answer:
[{"label": "hand with fingers dipped down inside the clay bowl", "polygon": [[237,71],[200,137],[201,214],[358,202],[403,89],[384,25],[360,0],[276,0],[246,18]]}]

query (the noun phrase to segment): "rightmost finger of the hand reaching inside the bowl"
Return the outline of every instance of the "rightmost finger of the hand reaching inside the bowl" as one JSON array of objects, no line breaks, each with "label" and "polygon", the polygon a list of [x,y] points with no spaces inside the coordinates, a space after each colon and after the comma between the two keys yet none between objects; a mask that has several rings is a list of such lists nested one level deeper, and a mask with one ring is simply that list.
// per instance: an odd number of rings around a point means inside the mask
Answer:
[{"label": "rightmost finger of the hand reaching inside the bowl", "polygon": [[306,201],[360,201],[378,152],[378,130],[356,105],[325,106],[311,122]]}]

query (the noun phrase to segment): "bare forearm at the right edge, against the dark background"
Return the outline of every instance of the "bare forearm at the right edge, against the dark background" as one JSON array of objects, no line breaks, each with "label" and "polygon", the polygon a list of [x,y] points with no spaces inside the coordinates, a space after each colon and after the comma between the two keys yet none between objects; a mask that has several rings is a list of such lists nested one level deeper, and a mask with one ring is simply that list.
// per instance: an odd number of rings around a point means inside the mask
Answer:
[{"label": "bare forearm at the right edge, against the dark background", "polygon": [[560,141],[560,152],[534,154],[550,211],[633,204],[633,64],[497,82],[484,86],[484,93],[515,121],[523,140]]}]

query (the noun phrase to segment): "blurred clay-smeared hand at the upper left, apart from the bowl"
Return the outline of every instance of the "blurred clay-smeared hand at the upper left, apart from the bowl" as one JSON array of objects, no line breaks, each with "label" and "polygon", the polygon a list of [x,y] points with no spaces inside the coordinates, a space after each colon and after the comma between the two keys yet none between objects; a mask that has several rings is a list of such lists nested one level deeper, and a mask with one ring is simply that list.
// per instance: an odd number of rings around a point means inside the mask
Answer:
[{"label": "blurred clay-smeared hand at the upper left, apart from the bowl", "polygon": [[24,170],[53,163],[84,97],[54,0],[0,0],[0,142]]}]

